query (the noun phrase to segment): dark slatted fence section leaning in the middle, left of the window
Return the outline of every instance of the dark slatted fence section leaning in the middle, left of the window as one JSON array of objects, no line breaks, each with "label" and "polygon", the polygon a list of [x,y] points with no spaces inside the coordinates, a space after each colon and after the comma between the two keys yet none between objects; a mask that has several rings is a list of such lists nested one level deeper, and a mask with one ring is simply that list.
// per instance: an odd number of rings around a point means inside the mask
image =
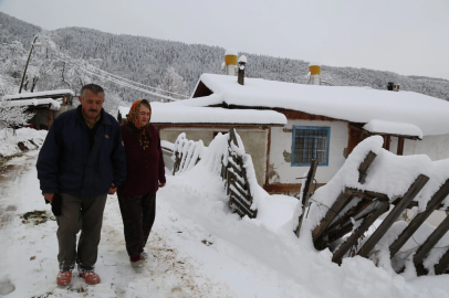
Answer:
[{"label": "dark slatted fence section leaning in the middle, left of the window", "polygon": [[244,167],[243,160],[251,160],[251,156],[244,152],[241,140],[236,135],[236,129],[231,127],[228,139],[228,159],[222,160],[221,178],[226,180],[229,207],[242,217],[248,215],[250,219],[255,219],[258,210],[251,209],[253,204],[251,182],[257,184],[255,172],[253,167],[251,167],[252,175],[247,172],[248,167]]}]

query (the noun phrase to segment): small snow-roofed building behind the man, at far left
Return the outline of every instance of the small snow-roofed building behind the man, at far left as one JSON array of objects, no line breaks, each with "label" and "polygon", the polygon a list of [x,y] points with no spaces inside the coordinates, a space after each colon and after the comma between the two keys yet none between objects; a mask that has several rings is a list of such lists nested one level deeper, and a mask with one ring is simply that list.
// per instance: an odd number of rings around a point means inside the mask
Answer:
[{"label": "small snow-roofed building behind the man, at far left", "polygon": [[12,106],[27,106],[35,113],[30,124],[36,129],[49,129],[54,118],[61,113],[73,108],[74,92],[71,89],[21,93],[4,96]]}]

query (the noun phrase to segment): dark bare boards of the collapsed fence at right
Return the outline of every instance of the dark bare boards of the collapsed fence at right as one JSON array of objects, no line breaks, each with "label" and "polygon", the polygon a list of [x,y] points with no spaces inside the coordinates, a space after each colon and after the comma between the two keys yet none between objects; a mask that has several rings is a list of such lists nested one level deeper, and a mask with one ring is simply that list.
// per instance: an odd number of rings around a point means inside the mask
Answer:
[{"label": "dark bare boards of the collapsed fence at right", "polygon": [[[358,168],[358,182],[364,184],[367,170],[375,160],[376,155],[369,152],[365,160],[361,163]],[[306,185],[313,180],[314,171],[310,171],[307,177]],[[313,230],[312,237],[316,249],[324,249],[330,247],[332,243],[341,241],[342,243],[333,252],[332,260],[334,263],[341,264],[343,257],[352,257],[355,255],[368,257],[375,245],[385,235],[385,233],[391,227],[399,215],[406,210],[411,209],[417,205],[417,202],[413,200],[420,192],[420,190],[429,181],[429,178],[420,174],[410,184],[408,191],[401,196],[395,200],[390,200],[388,195],[378,193],[375,191],[361,191],[352,188],[345,188],[344,191],[337,196],[335,202],[326,212],[325,216],[321,220],[320,224]],[[304,191],[307,191],[304,189]],[[390,258],[395,257],[404,244],[413,237],[414,233],[422,225],[422,223],[430,216],[430,214],[437,209],[442,207],[442,201],[449,195],[449,179],[440,187],[440,189],[432,195],[427,204],[424,212],[418,213],[407,227],[398,235],[398,237],[389,245]],[[296,235],[300,235],[301,223],[304,216],[304,207],[307,195],[303,194],[303,214],[300,216],[299,227]],[[305,200],[305,202],[304,202]],[[357,200],[357,204],[349,204],[352,200]],[[351,205],[354,205],[349,207]],[[386,213],[390,206],[394,206],[388,215],[384,219],[382,224],[376,228],[376,231],[370,234],[367,241],[364,241],[363,245],[361,240],[364,237],[365,232],[368,231],[369,226],[384,213]],[[361,224],[354,228],[354,222],[362,221]],[[449,216],[446,217],[437,228],[428,236],[428,238],[419,245],[416,254],[413,257],[415,267],[418,275],[427,274],[427,269],[424,267],[422,262],[429,255],[430,249],[432,249],[438,241],[448,232],[449,230]],[[349,236],[345,236],[348,233]],[[345,237],[344,237],[345,236]],[[361,246],[361,247],[359,247]],[[439,263],[435,265],[435,274],[439,275],[445,273],[449,266],[449,247],[446,248],[446,253],[440,258]],[[404,267],[398,272],[403,272]]]}]

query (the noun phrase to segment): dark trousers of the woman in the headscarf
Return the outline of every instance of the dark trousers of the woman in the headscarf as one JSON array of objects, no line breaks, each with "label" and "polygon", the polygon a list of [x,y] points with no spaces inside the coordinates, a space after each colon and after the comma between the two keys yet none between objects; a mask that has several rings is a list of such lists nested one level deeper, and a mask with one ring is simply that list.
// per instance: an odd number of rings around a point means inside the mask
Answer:
[{"label": "dark trousers of the woman in the headscarf", "polygon": [[118,195],[121,206],[126,251],[130,258],[136,258],[144,252],[149,232],[156,217],[156,193],[140,196]]}]

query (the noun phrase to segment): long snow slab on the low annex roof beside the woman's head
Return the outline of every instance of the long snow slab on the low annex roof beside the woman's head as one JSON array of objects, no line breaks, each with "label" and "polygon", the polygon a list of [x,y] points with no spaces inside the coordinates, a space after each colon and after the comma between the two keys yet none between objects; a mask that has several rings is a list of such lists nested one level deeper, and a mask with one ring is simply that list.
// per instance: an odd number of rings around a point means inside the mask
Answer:
[{"label": "long snow slab on the low annex roof beside the woman's head", "polygon": [[[118,107],[122,118],[126,118],[129,107]],[[192,107],[175,103],[152,103],[152,124],[215,124],[215,125],[272,125],[284,126],[286,118],[274,110],[226,109]]]}]

